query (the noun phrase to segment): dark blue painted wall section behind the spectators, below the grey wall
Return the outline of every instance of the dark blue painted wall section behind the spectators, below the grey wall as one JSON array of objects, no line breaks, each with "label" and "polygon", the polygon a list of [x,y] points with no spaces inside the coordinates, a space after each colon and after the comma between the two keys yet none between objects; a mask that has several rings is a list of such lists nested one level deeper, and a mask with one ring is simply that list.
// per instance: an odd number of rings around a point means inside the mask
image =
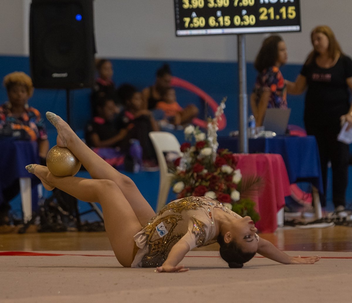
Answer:
[{"label": "dark blue painted wall section behind the spectators, below the grey wall", "polygon": [[[156,60],[123,60],[112,59],[114,68],[114,82],[119,84],[128,82],[142,90],[150,86],[155,79],[156,70],[165,61]],[[201,62],[201,61],[168,61],[173,75],[183,78],[203,89],[208,95],[219,103],[227,96],[225,115],[227,126],[219,135],[227,135],[230,131],[238,130],[238,65],[229,62]],[[24,71],[30,73],[28,57],[0,56],[0,78],[12,71]],[[282,73],[288,80],[295,80],[300,71],[300,65],[287,65],[282,68]],[[253,88],[257,72],[252,63],[247,64],[247,87],[248,97]],[[70,90],[71,127],[82,130],[89,120],[90,89]],[[0,104],[7,100],[6,90],[0,88]],[[201,108],[203,104],[199,97],[184,89],[177,88],[177,100],[181,105],[195,103]],[[303,127],[303,103],[304,96],[289,96],[289,107],[292,108],[289,124]],[[67,119],[67,97],[64,89],[35,89],[30,105],[37,108],[44,116],[46,111],[55,112],[62,118]],[[212,115],[209,111],[206,116]],[[202,113],[202,118],[204,113]],[[52,128],[47,125],[48,129]]]}]

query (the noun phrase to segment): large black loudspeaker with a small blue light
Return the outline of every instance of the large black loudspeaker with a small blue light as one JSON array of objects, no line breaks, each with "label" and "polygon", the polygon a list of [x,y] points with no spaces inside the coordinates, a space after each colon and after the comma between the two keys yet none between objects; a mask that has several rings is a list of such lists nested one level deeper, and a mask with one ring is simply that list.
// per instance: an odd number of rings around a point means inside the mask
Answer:
[{"label": "large black loudspeaker with a small blue light", "polygon": [[29,38],[34,87],[93,86],[93,0],[32,0]]}]

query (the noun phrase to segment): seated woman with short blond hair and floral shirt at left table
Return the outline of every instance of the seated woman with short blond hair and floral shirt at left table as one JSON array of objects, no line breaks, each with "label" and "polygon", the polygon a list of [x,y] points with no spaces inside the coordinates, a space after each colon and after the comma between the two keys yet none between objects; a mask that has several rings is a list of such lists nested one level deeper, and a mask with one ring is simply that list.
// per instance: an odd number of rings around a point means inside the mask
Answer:
[{"label": "seated woman with short blond hair and floral shirt at left table", "polygon": [[[0,135],[38,142],[40,162],[45,165],[49,151],[48,134],[39,111],[28,105],[33,95],[32,79],[15,71],[4,77],[8,101],[0,105]],[[9,223],[9,202],[18,194],[19,182],[3,189],[5,201],[0,205],[0,225]]]}]

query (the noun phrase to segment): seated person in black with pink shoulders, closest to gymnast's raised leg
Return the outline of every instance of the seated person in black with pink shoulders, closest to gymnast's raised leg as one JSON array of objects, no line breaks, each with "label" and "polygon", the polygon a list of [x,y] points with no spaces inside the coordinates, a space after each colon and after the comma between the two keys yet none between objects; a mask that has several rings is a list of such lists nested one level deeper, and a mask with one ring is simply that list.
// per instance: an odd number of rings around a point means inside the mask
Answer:
[{"label": "seated person in black with pink shoulders, closest to gymnast's raised leg", "polygon": [[97,115],[86,126],[86,144],[115,169],[138,172],[142,157],[131,146],[128,129],[116,116],[114,100],[100,98],[96,104]]}]

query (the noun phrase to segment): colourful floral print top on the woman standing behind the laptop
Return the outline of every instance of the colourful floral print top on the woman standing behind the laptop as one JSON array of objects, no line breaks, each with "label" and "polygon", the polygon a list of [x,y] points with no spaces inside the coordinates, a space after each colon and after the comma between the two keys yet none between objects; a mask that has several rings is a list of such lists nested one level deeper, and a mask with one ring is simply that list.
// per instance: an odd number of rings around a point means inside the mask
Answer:
[{"label": "colourful floral print top on the woman standing behind the laptop", "polygon": [[271,91],[268,108],[287,108],[286,84],[278,67],[265,69],[257,76],[253,90],[257,104],[265,88]]}]

